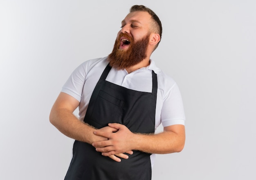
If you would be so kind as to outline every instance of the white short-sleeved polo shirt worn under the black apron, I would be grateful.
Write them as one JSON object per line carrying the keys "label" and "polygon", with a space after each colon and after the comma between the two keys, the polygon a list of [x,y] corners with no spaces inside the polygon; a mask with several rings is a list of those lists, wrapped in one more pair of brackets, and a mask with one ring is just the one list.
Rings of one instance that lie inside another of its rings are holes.
{"label": "white short-sleeved polo shirt worn under the black apron", "polygon": [[[73,71],[61,90],[80,102],[79,119],[81,121],[85,117],[94,87],[107,64],[107,57],[83,62]],[[152,70],[157,74],[155,129],[161,122],[163,127],[174,124],[184,125],[185,114],[180,90],[172,78],[156,67],[153,60],[150,60],[148,67],[143,67],[131,73],[127,73],[126,70],[112,68],[106,80],[128,89],[152,92]],[[151,155],[150,158],[153,167],[155,154]]]}

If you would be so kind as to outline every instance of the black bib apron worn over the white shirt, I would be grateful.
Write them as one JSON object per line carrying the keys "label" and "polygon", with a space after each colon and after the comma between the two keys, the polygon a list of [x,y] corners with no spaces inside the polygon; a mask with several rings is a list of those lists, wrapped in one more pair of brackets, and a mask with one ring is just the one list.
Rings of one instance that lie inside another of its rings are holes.
{"label": "black bib apron worn over the white shirt", "polygon": [[[157,75],[152,71],[152,93],[135,91],[106,81],[108,65],[92,93],[84,122],[96,128],[124,124],[137,133],[155,132]],[[65,180],[151,180],[149,153],[133,151],[116,162],[88,143],[75,140],[73,158]]]}

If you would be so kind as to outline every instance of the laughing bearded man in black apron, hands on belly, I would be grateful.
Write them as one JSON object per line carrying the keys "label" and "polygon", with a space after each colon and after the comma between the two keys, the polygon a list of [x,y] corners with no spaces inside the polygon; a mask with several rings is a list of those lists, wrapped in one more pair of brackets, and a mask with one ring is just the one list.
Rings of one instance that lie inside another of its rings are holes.
{"label": "laughing bearded man in black apron, hands on belly", "polygon": [[81,64],[63,86],[50,122],[75,139],[65,180],[150,180],[155,153],[182,151],[180,91],[150,60],[161,36],[157,15],[132,6],[112,53]]}

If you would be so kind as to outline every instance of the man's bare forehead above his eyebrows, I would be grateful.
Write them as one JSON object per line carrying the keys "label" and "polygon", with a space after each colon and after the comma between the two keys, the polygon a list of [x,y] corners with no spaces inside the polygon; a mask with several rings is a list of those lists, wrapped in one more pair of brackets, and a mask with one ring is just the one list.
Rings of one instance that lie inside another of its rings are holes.
{"label": "man's bare forehead above his eyebrows", "polygon": [[128,23],[128,22],[138,22],[140,24],[150,24],[151,22],[151,16],[148,12],[145,11],[134,11],[129,13],[124,20],[122,20],[122,23]]}

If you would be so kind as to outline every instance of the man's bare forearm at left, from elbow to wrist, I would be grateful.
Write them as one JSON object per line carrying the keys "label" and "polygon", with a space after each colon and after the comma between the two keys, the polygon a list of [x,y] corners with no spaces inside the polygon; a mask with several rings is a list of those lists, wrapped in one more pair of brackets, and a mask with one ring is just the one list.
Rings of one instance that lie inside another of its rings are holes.
{"label": "man's bare forearm at left, from elbow to wrist", "polygon": [[64,135],[75,140],[92,144],[94,142],[93,127],[81,122],[72,112],[67,109],[52,109],[50,122]]}

